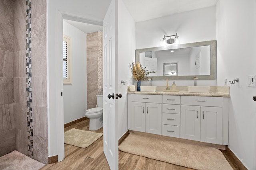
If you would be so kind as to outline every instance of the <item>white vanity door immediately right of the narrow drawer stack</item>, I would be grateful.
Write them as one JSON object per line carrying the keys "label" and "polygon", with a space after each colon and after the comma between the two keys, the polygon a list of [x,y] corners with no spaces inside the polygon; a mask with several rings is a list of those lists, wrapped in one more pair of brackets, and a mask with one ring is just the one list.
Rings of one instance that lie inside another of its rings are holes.
{"label": "white vanity door immediately right of the narrow drawer stack", "polygon": [[180,138],[200,141],[200,106],[180,106]]}

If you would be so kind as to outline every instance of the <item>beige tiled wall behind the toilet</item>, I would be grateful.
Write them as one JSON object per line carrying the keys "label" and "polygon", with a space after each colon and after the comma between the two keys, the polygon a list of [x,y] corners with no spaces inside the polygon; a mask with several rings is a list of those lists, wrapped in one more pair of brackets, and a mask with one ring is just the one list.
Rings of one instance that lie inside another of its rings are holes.
{"label": "beige tiled wall behind the toilet", "polygon": [[[102,94],[102,31],[87,34],[87,109],[96,107],[96,95]],[[97,85],[98,86],[97,86]]]}

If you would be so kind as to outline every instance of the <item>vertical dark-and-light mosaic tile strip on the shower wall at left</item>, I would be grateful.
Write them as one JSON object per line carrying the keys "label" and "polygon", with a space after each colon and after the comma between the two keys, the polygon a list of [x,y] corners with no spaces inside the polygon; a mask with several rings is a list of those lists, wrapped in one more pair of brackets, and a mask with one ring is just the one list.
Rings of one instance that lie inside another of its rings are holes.
{"label": "vertical dark-and-light mosaic tile strip on the shower wall at left", "polygon": [[34,158],[33,152],[33,112],[32,112],[32,70],[31,70],[31,1],[26,0],[26,92],[28,121],[28,156]]}

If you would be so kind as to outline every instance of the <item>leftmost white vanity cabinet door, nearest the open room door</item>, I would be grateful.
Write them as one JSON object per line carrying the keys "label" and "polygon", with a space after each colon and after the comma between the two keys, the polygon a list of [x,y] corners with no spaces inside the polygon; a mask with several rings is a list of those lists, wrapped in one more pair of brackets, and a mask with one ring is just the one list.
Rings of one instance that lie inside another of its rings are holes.
{"label": "leftmost white vanity cabinet door, nearest the open room door", "polygon": [[146,105],[140,102],[131,103],[131,130],[145,132]]}

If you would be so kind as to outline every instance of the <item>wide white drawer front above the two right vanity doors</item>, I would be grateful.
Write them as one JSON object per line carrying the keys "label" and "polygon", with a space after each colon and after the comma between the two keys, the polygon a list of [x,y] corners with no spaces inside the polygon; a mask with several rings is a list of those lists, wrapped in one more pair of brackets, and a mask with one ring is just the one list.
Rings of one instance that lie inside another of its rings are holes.
{"label": "wide white drawer front above the two right vanity doors", "polygon": [[180,104],[194,106],[215,106],[223,107],[222,97],[206,97],[206,96],[181,96]]}

